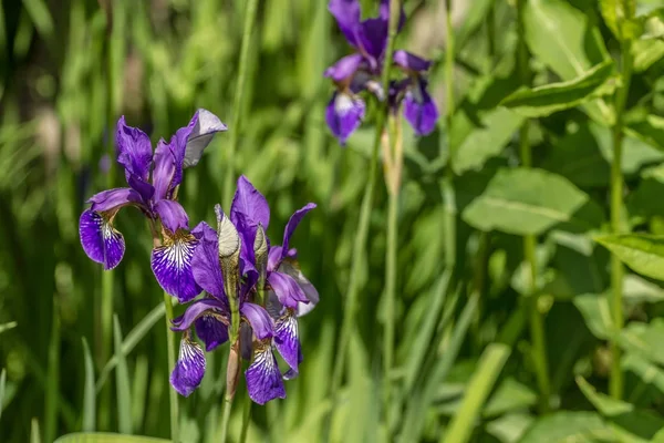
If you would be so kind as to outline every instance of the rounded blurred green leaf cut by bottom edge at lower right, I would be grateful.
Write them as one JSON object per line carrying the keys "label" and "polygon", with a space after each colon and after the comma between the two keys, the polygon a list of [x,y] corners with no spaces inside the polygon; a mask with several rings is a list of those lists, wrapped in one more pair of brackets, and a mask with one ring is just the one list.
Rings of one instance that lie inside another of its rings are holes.
{"label": "rounded blurred green leaf cut by bottom edge at lower right", "polygon": [[611,429],[594,412],[560,411],[538,419],[519,443],[616,442]]}

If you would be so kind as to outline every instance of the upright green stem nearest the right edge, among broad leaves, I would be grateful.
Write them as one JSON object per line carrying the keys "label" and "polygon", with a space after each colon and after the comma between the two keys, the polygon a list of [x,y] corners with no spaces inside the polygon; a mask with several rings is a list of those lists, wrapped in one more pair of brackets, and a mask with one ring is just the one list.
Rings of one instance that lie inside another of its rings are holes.
{"label": "upright green stem nearest the right edge, among broad leaves", "polygon": [[[624,1],[625,18],[631,20],[634,17],[632,2]],[[624,231],[622,224],[623,210],[623,187],[624,179],[622,175],[622,154],[623,154],[623,130],[624,130],[624,111],[630,91],[630,82],[632,80],[632,41],[630,39],[621,40],[621,75],[622,87],[615,93],[615,124],[613,125],[613,162],[611,163],[611,230],[613,234]],[[624,313],[622,302],[624,268],[620,259],[615,255],[611,255],[611,288],[612,298],[610,300],[613,322],[618,331],[624,326]],[[623,395],[623,374],[620,367],[621,352],[615,340],[611,341],[612,363],[611,378],[609,381],[609,392],[614,399],[621,399]]]}

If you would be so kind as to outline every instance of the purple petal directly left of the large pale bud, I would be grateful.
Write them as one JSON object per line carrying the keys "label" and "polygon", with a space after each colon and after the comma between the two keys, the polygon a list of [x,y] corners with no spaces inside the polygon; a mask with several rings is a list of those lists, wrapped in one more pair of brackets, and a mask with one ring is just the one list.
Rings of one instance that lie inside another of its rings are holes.
{"label": "purple petal directly left of the large pale bud", "polygon": [[211,296],[221,300],[226,299],[224,276],[219,264],[217,231],[207,223],[201,222],[191,234],[199,239],[191,259],[194,280]]}

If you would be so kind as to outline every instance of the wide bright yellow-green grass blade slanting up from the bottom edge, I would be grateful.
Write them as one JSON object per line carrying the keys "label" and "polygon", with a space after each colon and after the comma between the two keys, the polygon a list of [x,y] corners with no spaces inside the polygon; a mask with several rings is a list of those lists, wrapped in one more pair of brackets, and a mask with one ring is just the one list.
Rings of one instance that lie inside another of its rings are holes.
{"label": "wide bright yellow-green grass blade slanting up from the bottom edge", "polygon": [[477,371],[468,382],[460,408],[452,419],[449,431],[440,437],[440,443],[466,443],[475,427],[489,392],[500,374],[511,348],[502,343],[491,343],[483,352]]}

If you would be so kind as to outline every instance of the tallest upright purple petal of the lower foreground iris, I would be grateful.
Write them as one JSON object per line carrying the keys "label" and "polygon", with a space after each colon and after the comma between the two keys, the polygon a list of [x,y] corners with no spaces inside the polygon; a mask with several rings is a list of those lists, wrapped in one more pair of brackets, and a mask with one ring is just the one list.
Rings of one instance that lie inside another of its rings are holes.
{"label": "tallest upright purple petal of the lower foreground iris", "polygon": [[241,257],[253,264],[256,231],[258,225],[262,225],[263,229],[268,228],[270,207],[266,197],[243,175],[238,178],[237,190],[230,205],[230,220],[242,238]]}

